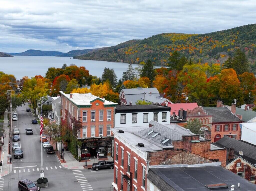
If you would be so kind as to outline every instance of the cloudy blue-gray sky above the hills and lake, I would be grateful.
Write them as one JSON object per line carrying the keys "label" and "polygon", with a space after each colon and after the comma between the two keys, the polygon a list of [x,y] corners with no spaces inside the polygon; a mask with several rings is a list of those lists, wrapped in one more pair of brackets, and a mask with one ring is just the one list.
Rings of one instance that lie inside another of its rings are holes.
{"label": "cloudy blue-gray sky above the hills and lake", "polygon": [[255,1],[0,0],[0,51],[68,52],[255,23]]}

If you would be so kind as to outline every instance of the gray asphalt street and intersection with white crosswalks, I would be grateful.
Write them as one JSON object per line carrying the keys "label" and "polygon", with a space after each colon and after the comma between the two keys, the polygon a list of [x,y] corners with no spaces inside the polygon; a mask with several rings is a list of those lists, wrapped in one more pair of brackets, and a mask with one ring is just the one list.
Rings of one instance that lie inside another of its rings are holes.
{"label": "gray asphalt street and intersection with white crosswalks", "polygon": [[[41,142],[38,124],[31,124],[34,118],[31,112],[26,112],[28,106],[18,107],[18,121],[13,121],[13,127],[19,128],[20,145],[23,158],[14,159],[13,170],[3,176],[0,185],[4,191],[18,190],[17,184],[21,179],[36,181],[40,177],[41,168]],[[26,128],[33,129],[33,135],[26,135]],[[90,169],[66,169],[62,167],[55,154],[47,154],[43,150],[44,177],[48,179],[49,186],[40,190],[81,190],[103,191],[111,190],[113,182],[113,169],[93,171]],[[113,190],[113,189],[112,189]]]}

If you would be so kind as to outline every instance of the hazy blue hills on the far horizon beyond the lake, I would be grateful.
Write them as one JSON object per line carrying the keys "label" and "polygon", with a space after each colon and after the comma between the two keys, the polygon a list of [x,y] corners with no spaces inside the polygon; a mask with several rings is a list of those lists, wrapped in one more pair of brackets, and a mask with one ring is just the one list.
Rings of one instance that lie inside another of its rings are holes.
{"label": "hazy blue hills on the far horizon beyond the lake", "polygon": [[68,53],[58,52],[58,51],[44,51],[44,50],[27,50],[22,53],[9,53],[14,56],[66,56],[66,57],[73,57],[78,55],[87,54],[93,50],[97,50],[97,48],[94,49],[84,49],[84,50],[71,50]]}

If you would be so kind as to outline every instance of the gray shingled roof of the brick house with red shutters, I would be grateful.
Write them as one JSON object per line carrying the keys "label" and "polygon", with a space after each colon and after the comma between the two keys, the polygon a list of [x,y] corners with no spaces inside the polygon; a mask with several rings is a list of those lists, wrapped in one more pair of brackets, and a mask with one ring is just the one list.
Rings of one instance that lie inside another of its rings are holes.
{"label": "gray shingled roof of the brick house with red shutters", "polygon": [[212,115],[212,122],[241,121],[227,107],[204,107],[208,115]]}

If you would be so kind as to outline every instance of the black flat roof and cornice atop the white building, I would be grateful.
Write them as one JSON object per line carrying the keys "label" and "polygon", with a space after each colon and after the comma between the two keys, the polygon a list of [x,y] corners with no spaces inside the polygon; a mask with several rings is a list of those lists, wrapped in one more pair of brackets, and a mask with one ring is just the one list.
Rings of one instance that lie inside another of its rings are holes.
{"label": "black flat roof and cornice atop the white building", "polygon": [[161,105],[118,105],[116,106],[115,113],[133,113],[133,112],[158,112],[170,111],[171,108]]}

